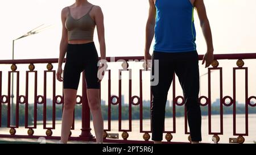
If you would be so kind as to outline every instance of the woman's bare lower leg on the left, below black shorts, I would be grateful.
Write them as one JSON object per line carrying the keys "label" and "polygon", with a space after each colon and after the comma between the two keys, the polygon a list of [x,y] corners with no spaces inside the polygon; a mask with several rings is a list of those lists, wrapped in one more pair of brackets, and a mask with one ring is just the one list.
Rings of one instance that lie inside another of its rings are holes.
{"label": "woman's bare lower leg on the left, below black shorts", "polygon": [[61,124],[61,143],[67,143],[70,129],[73,123],[73,112],[76,105],[75,89],[64,89],[64,110]]}

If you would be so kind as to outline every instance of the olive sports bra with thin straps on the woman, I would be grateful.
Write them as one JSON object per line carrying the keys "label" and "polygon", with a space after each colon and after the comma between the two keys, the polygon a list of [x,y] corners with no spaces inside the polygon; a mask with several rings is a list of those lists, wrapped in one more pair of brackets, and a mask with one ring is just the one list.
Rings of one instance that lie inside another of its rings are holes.
{"label": "olive sports bra with thin straps on the woman", "polygon": [[90,8],[87,14],[79,19],[74,19],[68,7],[68,16],[65,21],[65,27],[68,30],[68,40],[92,40],[96,23],[90,17],[89,13],[94,6]]}

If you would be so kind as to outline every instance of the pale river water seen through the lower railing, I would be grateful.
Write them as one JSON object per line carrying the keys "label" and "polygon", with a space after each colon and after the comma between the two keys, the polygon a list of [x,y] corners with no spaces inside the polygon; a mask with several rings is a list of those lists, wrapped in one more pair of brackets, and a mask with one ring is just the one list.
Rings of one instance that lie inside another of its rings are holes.
{"label": "pale river water seen through the lower railing", "polygon": [[[237,132],[244,133],[245,132],[245,115],[237,115]],[[46,135],[46,130],[43,129],[43,125],[38,122],[37,129],[35,130],[34,135]],[[42,122],[41,122],[42,123]],[[51,122],[47,122],[47,127],[51,127]],[[184,117],[176,118],[176,133],[173,133],[172,141],[188,141],[188,135],[184,134]],[[224,115],[223,119],[224,124],[224,135],[220,135],[220,143],[229,143],[229,138],[236,138],[237,136],[233,136],[233,115]],[[112,120],[112,131],[108,133],[119,133],[119,139],[122,139],[122,132],[118,132],[118,121]],[[104,121],[104,127],[108,127],[108,122]],[[122,120],[122,129],[128,129],[129,124],[128,120]],[[132,121],[132,132],[129,132],[129,140],[143,140],[143,133],[139,133],[139,120]],[[166,130],[172,131],[172,118],[166,118],[165,123]],[[93,124],[91,122],[92,134],[94,135]],[[81,133],[81,120],[75,121],[75,130],[72,131],[72,136],[79,136]],[[150,120],[143,120],[143,130],[150,129]],[[53,136],[60,136],[61,131],[61,121],[56,121],[56,129],[53,130]],[[220,116],[213,115],[212,116],[212,132],[220,131]],[[9,135],[9,128],[0,128],[0,134]],[[16,135],[27,135],[27,129],[24,127],[20,127],[16,129]],[[151,133],[150,133],[151,135]],[[165,134],[163,135],[163,137]],[[212,135],[208,134],[208,116],[202,117],[202,136],[203,143],[211,143]],[[256,141],[256,114],[249,115],[249,136],[245,136],[245,143],[253,143]]]}

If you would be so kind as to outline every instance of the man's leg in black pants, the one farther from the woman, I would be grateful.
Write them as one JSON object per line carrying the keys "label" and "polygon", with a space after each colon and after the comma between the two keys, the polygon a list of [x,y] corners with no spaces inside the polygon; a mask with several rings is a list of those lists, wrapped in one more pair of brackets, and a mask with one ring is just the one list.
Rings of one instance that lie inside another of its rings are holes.
{"label": "man's leg in black pants, the one farther from the woman", "polygon": [[192,143],[201,138],[201,109],[199,103],[199,60],[197,52],[180,53],[175,63],[175,73],[183,89],[188,125]]}

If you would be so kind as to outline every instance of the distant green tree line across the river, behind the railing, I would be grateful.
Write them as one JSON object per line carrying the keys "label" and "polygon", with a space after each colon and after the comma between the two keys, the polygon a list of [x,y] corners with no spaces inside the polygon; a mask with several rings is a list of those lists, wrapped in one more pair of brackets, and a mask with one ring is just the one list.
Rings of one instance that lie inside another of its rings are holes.
{"label": "distant green tree line across the river, behind the railing", "polygon": [[[108,106],[102,105],[102,115],[104,120],[108,120]],[[28,106],[28,124],[34,122],[34,106]],[[212,115],[220,114],[220,107],[212,107]],[[233,107],[224,107],[224,114],[233,114]],[[37,120],[43,120],[43,105],[38,105]],[[77,105],[75,108],[75,119],[81,119],[82,106]],[[237,114],[245,114],[245,107],[239,106],[236,108]],[[56,120],[61,120],[62,106],[56,105]],[[203,116],[208,115],[208,107],[201,107],[201,114]],[[249,107],[249,114],[256,114],[256,108]],[[166,118],[172,118],[172,107],[166,108]],[[176,117],[184,116],[184,107],[176,107]],[[15,117],[15,116],[14,116]],[[92,118],[92,117],[91,117]],[[139,106],[133,106],[131,110],[131,118],[139,119]],[[112,105],[111,119],[118,120],[118,106]],[[122,120],[129,119],[129,107],[127,105],[122,106]],[[143,119],[150,119],[150,107],[143,107]],[[47,105],[47,120],[52,120],[52,106]],[[19,106],[19,125],[24,125],[25,122],[25,107],[24,105]],[[2,127],[7,125],[7,106],[2,105]]]}

